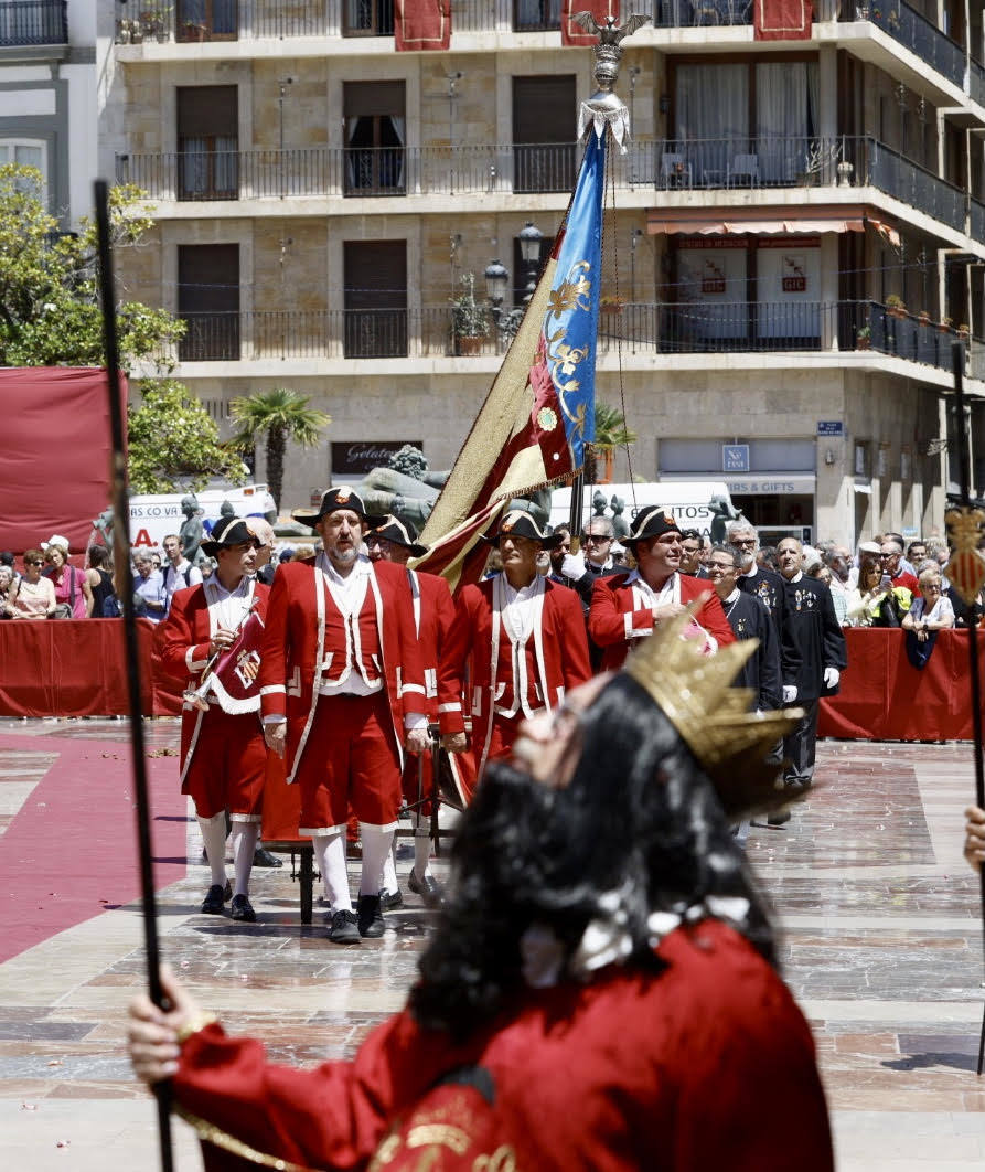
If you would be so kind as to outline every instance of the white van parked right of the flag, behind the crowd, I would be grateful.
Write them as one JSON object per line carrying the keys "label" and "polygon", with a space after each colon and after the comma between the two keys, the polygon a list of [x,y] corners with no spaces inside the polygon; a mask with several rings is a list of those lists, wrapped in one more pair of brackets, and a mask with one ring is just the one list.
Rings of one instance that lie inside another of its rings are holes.
{"label": "white van parked right of the flag, behind the crowd", "polygon": [[[645,484],[586,484],[582,496],[582,524],[590,520],[591,498],[601,492],[606,500],[618,497],[625,505],[623,518],[632,525],[634,515],[650,505],[661,505],[673,515],[682,529],[696,529],[712,541],[725,540],[725,526],[741,516],[732,504],[724,481],[651,481]],[[555,489],[550,497],[550,524],[567,525],[572,512],[572,490]],[[607,507],[606,516],[613,510]]]}

